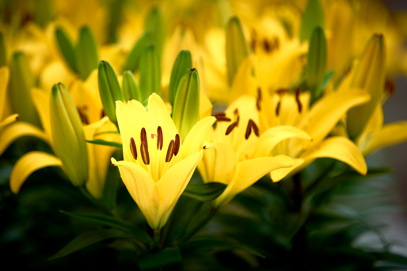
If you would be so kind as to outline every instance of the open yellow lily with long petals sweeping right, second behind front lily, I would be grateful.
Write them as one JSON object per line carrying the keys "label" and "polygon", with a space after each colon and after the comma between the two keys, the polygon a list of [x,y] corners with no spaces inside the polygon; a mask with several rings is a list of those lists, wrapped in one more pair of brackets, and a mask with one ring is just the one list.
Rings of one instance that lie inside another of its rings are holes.
{"label": "open yellow lily with long petals sweeping right, second behind front lily", "polygon": [[291,125],[309,134],[309,138],[293,134],[275,145],[264,141],[260,143],[261,153],[266,155],[285,154],[295,161],[288,169],[271,171],[271,179],[278,182],[288,174],[292,175],[312,163],[316,158],[329,157],[340,160],[365,175],[367,167],[358,147],[343,136],[327,137],[337,122],[353,106],[364,104],[370,95],[361,89],[348,89],[339,86],[337,91],[325,94],[309,108],[310,94],[284,93],[273,94],[261,102],[263,129]]}

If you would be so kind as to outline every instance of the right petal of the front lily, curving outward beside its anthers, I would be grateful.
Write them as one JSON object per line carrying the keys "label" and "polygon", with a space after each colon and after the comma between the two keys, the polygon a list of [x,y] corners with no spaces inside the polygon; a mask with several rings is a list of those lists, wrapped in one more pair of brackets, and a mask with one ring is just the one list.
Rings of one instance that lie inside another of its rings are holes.
{"label": "right petal of the front lily, curving outward beside its anthers", "polygon": [[188,132],[184,142],[182,142],[182,153],[184,157],[190,156],[199,150],[199,146],[205,137],[206,132],[215,123],[216,117],[204,117],[198,121]]}

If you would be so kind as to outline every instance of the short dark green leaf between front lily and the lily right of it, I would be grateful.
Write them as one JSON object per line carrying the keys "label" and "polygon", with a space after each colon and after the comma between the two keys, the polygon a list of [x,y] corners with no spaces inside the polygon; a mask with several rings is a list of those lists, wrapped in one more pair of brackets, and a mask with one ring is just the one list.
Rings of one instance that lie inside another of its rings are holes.
{"label": "short dark green leaf between front lily and the lily right of it", "polygon": [[202,202],[210,202],[219,197],[226,189],[226,186],[228,185],[220,182],[188,184],[182,195],[198,199]]}

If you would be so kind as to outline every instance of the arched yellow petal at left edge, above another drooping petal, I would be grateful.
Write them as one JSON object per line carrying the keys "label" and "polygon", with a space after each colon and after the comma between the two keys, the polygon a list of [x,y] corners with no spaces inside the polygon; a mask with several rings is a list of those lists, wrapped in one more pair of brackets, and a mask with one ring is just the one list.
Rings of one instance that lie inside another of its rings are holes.
{"label": "arched yellow petal at left edge, above another drooping petal", "polygon": [[37,128],[37,126],[29,124],[28,122],[17,121],[4,127],[0,133],[0,154],[2,154],[16,139],[25,136],[38,137],[49,143],[46,134],[41,129]]}

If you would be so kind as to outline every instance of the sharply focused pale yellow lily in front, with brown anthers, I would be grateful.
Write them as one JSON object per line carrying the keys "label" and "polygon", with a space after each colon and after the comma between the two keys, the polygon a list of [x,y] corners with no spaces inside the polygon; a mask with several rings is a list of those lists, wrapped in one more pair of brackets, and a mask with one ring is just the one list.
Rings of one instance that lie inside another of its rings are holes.
{"label": "sharply focused pale yellow lily in front, with brown anthers", "polygon": [[198,121],[181,142],[164,101],[155,93],[149,97],[148,111],[136,100],[116,101],[116,116],[124,160],[112,158],[112,164],[119,167],[147,223],[160,229],[201,160],[199,145],[216,118]]}

